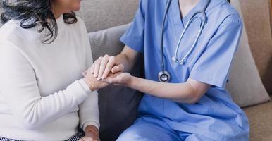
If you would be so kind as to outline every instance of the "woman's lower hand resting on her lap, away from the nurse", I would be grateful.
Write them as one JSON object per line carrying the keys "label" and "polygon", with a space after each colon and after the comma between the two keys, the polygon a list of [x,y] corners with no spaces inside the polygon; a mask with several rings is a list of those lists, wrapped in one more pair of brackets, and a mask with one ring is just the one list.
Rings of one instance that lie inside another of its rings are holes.
{"label": "woman's lower hand resting on her lap, away from the nurse", "polygon": [[99,141],[99,130],[94,125],[85,128],[85,136],[80,141]]}

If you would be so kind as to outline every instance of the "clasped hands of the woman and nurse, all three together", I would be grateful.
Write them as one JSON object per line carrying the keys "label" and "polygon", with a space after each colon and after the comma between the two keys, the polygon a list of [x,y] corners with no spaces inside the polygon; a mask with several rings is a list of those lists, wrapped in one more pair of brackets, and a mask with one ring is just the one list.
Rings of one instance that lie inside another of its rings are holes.
{"label": "clasped hands of the woman and nurse, all three together", "polygon": [[124,73],[124,70],[124,65],[116,59],[116,56],[105,55],[94,61],[82,75],[91,90],[99,90],[110,84],[128,85],[132,76],[130,73]]}

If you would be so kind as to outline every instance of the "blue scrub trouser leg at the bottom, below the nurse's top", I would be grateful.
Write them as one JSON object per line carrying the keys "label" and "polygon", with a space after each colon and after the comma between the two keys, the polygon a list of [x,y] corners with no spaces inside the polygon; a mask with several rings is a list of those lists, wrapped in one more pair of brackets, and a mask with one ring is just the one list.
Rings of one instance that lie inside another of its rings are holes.
{"label": "blue scrub trouser leg at the bottom, below the nurse's top", "polygon": [[117,141],[215,141],[195,133],[185,133],[170,128],[158,118],[142,117],[125,130]]}

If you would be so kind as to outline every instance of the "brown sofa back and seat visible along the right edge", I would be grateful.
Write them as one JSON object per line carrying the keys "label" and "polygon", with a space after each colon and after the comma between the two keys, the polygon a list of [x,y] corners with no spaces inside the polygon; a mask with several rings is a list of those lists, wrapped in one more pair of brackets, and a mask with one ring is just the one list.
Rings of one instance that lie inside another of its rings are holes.
{"label": "brown sofa back and seat visible along the right edge", "polygon": [[[266,90],[272,94],[272,40],[270,0],[240,0],[252,55]],[[251,140],[272,140],[272,102],[244,109],[251,125]]]}

